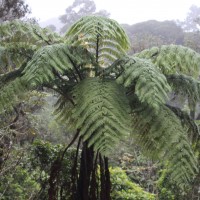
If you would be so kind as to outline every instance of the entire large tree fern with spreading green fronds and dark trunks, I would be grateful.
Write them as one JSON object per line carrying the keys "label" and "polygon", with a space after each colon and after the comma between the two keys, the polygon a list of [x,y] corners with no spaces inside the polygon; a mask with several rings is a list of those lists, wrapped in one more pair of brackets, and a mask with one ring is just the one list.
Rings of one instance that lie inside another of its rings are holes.
{"label": "entire large tree fern with spreading green fronds and dark trunks", "polygon": [[[160,160],[175,184],[184,188],[193,180],[198,172],[198,129],[167,100],[173,91],[191,109],[199,101],[195,79],[199,54],[170,45],[128,56],[124,30],[104,17],[84,17],[64,37],[24,22],[3,23],[0,30],[6,36],[1,39],[2,52],[17,63],[0,77],[1,111],[12,109],[22,93],[47,87],[57,94],[58,120],[74,132],[72,142],[51,165],[49,199],[58,195],[62,159],[75,140],[72,199],[110,199],[108,156],[127,137],[134,138],[146,155]],[[21,46],[12,46],[15,37]],[[28,38],[25,46],[24,38]]]}

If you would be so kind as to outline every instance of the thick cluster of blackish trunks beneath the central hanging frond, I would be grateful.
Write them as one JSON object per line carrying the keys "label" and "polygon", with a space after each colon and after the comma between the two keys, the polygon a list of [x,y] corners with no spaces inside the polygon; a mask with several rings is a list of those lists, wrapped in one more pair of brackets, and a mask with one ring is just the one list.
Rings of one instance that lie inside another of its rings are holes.
{"label": "thick cluster of blackish trunks beneath the central hanging frond", "polygon": [[[100,186],[98,185],[98,155],[95,156],[92,147],[83,144],[80,173],[77,186],[77,199],[79,200],[110,200],[110,173],[108,169],[108,158],[99,155]],[[99,194],[100,187],[100,194]]]}

